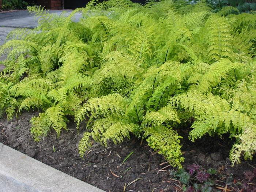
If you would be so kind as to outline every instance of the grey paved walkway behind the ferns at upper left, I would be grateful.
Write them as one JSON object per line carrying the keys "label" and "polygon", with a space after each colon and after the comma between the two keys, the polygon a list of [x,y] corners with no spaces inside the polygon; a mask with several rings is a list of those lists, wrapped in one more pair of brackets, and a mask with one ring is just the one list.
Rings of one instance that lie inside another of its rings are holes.
{"label": "grey paved walkway behind the ferns at upper left", "polygon": [[[65,15],[69,15],[72,10],[49,10],[52,14],[60,15],[65,12]],[[81,13],[77,13],[74,16],[74,21],[78,21],[82,17]],[[34,15],[30,14],[26,10],[7,12],[0,14],[0,46],[4,44],[7,34],[16,28],[30,28],[37,27],[37,19]],[[3,61],[6,55],[0,56],[0,61]]]}

